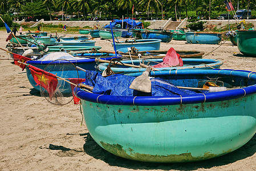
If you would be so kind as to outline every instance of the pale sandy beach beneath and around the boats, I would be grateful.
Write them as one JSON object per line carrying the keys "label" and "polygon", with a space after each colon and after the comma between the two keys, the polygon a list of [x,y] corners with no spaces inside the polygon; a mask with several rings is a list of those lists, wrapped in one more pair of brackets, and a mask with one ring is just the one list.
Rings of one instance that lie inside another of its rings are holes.
{"label": "pale sandy beach beneath and around the boats", "polygon": [[[7,36],[0,31],[1,48]],[[95,40],[101,50],[113,50],[109,40]],[[223,60],[221,69],[256,71],[256,58],[242,55],[230,41],[219,46],[172,40],[160,50],[214,50],[204,58]],[[0,55],[9,58],[5,51]],[[79,105],[48,103],[12,62],[0,60],[0,170],[256,170],[256,135],[234,152],[200,162],[154,164],[117,157],[95,143],[84,123],[80,126]]]}

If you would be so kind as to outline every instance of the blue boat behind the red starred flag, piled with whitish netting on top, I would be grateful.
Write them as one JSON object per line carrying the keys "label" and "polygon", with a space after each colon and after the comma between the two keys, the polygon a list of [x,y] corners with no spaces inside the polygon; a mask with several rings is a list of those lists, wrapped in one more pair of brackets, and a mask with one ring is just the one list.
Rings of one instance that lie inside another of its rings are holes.
{"label": "blue boat behind the red starred flag, piled with whitish netting on top", "polygon": [[[113,58],[118,58],[116,56],[104,56],[104,58],[101,58],[101,56],[98,56],[97,58],[103,59],[103,60],[111,60]],[[26,62],[27,64],[31,64],[32,66],[38,67],[42,70],[44,70],[47,67],[47,71],[51,72],[52,74],[55,74],[57,76],[60,76],[61,78],[74,78],[74,76],[79,76],[79,78],[85,77],[85,72],[81,70],[75,70],[75,67],[71,67],[71,63],[75,66],[81,67],[84,70],[93,70],[95,71],[95,59],[76,59],[76,60],[28,60]],[[49,71],[50,70],[50,71]],[[29,82],[32,87],[34,87],[37,91],[40,91],[40,86],[35,82],[33,79],[31,72],[28,67],[26,67],[26,73],[27,78],[29,79]],[[59,80],[58,86],[61,89],[60,92],[71,94],[71,87],[70,84],[67,84],[66,82]]]}

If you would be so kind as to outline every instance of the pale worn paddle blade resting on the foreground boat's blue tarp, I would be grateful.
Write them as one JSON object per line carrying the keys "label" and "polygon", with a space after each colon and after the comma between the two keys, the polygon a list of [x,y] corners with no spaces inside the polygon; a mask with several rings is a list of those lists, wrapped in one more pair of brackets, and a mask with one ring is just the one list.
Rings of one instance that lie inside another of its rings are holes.
{"label": "pale worn paddle blade resting on the foreground boat's blue tarp", "polygon": [[135,78],[129,88],[147,93],[151,92],[151,80],[148,78],[149,71],[151,71],[150,67],[143,74]]}

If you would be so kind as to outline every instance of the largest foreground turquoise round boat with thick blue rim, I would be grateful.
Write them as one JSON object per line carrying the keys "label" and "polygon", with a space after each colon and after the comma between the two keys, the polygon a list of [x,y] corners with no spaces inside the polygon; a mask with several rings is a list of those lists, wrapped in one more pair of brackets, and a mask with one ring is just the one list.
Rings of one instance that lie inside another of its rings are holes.
{"label": "largest foreground turquoise round boat with thick blue rim", "polygon": [[218,79],[228,88],[245,87],[183,96],[113,96],[78,89],[86,127],[108,152],[144,162],[192,162],[233,152],[254,136],[256,72],[178,70],[151,76],[175,86]]}

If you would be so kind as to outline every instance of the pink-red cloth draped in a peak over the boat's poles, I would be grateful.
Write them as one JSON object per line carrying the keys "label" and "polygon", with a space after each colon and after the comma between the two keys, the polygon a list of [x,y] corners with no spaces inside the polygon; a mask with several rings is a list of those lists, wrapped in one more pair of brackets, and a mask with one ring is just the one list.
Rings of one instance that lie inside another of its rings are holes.
{"label": "pink-red cloth draped in a peak over the boat's poles", "polygon": [[174,48],[170,48],[162,59],[163,62],[153,66],[154,68],[165,68],[165,67],[182,67],[183,61],[180,58],[180,55],[174,50]]}

